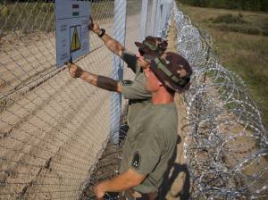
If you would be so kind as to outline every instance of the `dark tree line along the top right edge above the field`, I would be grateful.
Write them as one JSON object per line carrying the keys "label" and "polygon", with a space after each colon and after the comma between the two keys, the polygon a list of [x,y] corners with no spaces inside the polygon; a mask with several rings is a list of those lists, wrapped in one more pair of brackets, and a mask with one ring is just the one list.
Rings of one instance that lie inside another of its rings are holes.
{"label": "dark tree line along the top right edge above the field", "polygon": [[179,0],[179,2],[198,7],[268,12],[268,0]]}

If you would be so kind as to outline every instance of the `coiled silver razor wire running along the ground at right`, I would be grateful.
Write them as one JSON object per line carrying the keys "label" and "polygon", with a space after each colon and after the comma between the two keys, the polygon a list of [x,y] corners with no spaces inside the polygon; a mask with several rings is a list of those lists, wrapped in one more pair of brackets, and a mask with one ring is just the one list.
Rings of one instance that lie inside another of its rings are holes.
{"label": "coiled silver razor wire running along the ground at right", "polygon": [[260,112],[243,80],[214,55],[209,35],[173,8],[177,49],[194,70],[184,96],[191,197],[267,198],[268,140]]}

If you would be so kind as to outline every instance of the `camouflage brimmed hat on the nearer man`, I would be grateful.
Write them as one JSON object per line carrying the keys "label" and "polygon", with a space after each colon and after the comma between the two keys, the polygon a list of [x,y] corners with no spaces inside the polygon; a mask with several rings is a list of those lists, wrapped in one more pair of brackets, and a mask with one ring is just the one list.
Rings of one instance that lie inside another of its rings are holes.
{"label": "camouflage brimmed hat on the nearer man", "polygon": [[161,57],[155,57],[151,60],[150,70],[165,87],[170,87],[175,92],[181,93],[190,86],[192,69],[180,54],[168,52]]}

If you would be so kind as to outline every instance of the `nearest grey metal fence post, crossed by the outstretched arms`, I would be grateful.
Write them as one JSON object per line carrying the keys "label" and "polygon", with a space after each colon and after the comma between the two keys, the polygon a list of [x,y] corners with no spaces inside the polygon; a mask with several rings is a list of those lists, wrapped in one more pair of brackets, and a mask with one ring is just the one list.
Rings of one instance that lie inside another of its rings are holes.
{"label": "nearest grey metal fence post, crossed by the outstretched arms", "polygon": [[[127,1],[114,1],[114,38],[122,45],[125,44]],[[114,54],[112,78],[122,79],[123,61]],[[110,134],[113,143],[118,143],[121,117],[121,95],[111,94],[111,113],[110,113]]]}

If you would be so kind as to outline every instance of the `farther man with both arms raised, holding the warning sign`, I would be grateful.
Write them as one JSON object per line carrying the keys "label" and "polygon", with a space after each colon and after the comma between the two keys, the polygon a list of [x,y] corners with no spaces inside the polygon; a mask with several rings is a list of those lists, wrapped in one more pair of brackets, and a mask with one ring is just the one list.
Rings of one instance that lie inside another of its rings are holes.
{"label": "farther man with both arms raised, holding the warning sign", "polygon": [[130,126],[131,121],[142,110],[151,99],[151,94],[147,92],[145,87],[145,77],[142,72],[142,68],[147,68],[151,57],[163,54],[166,50],[167,42],[160,37],[146,37],[143,43],[136,42],[139,53],[137,55],[131,53],[118,41],[110,37],[105,33],[105,29],[100,29],[96,22],[91,20],[91,29],[98,37],[100,37],[105,46],[110,51],[117,54],[123,59],[128,67],[136,73],[135,79],[131,80],[114,80],[108,77],[92,74],[88,71],[82,70],[79,66],[71,64],[70,74],[73,78],[80,78],[88,83],[103,88],[108,91],[121,93],[122,96],[129,101],[128,112],[128,124]]}

